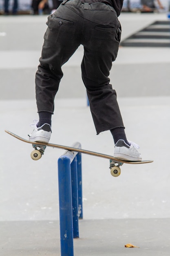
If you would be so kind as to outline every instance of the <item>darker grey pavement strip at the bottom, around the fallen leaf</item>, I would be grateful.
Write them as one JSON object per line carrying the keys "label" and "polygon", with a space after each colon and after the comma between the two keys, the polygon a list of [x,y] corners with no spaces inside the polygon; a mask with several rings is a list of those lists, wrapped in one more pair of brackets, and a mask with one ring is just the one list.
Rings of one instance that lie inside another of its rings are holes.
{"label": "darker grey pavement strip at the bottom, around the fallen leaf", "polygon": [[[74,255],[166,256],[169,225],[170,219],[81,220]],[[2,222],[1,230],[3,256],[60,256],[58,221]]]}

